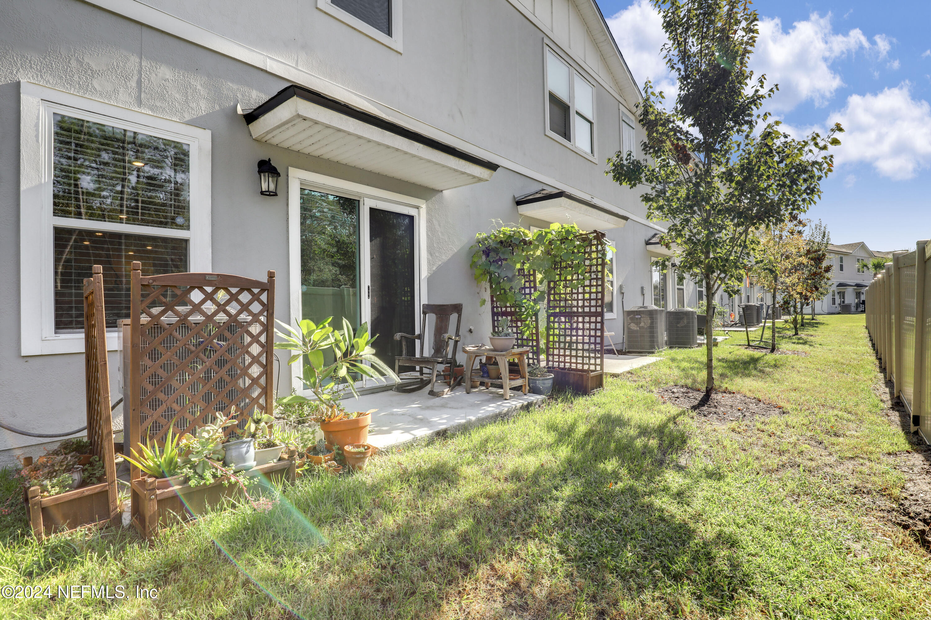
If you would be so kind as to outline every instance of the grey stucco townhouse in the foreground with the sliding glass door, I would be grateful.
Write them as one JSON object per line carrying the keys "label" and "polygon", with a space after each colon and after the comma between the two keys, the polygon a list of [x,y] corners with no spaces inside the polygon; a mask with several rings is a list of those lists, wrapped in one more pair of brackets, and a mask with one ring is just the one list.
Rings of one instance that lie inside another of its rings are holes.
{"label": "grey stucco townhouse in the foreground with the sliding glass door", "polygon": [[[592,0],[7,0],[0,41],[9,425],[84,424],[92,264],[115,394],[134,260],[274,269],[278,319],[368,321],[389,363],[427,301],[464,303],[463,344],[487,338],[469,246],[494,222],[607,234],[618,347],[622,308],[651,302],[662,228],[604,174],[639,150],[640,89]],[[40,441],[4,433],[0,464]]]}

